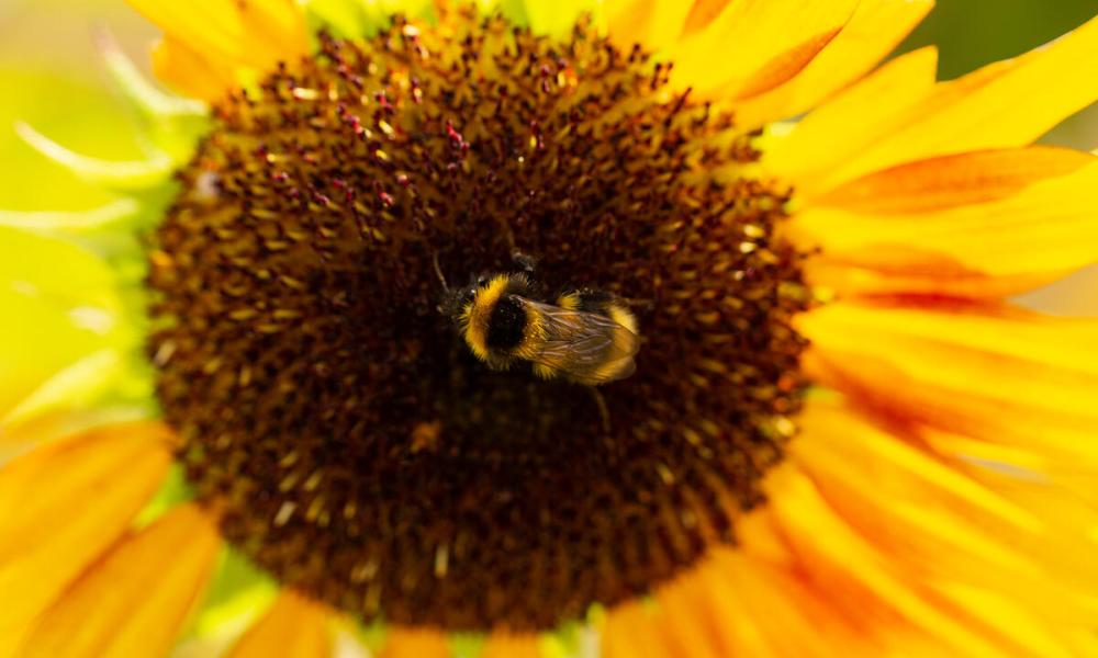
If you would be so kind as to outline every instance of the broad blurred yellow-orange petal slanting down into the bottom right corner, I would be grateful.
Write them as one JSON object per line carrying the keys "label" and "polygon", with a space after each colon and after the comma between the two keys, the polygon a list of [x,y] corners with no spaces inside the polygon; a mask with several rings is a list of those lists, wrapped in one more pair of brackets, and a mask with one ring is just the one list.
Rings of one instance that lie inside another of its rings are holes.
{"label": "broad blurred yellow-orange petal slanting down into the bottom right corner", "polygon": [[[1015,654],[1065,656],[1072,625],[1093,625],[1093,547],[1065,543],[1040,510],[999,497],[852,409],[809,404],[802,423],[791,458],[831,509],[932,595],[952,601],[974,629],[1017,645]],[[973,608],[977,600],[986,605]],[[994,623],[996,611],[1013,623]]]}

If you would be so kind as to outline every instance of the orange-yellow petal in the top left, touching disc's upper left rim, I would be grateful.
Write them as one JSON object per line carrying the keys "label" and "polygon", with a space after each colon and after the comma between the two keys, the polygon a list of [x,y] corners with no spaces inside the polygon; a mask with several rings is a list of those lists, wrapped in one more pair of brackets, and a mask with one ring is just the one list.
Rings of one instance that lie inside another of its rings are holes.
{"label": "orange-yellow petal in the top left, touching disc's upper left rim", "polygon": [[[130,3],[165,32],[155,54],[157,75],[204,99],[220,95],[210,90],[214,82],[227,89],[243,82],[246,69],[268,71],[307,53],[305,19],[293,0]],[[228,72],[233,79],[225,83]],[[204,75],[213,80],[202,82]]]}

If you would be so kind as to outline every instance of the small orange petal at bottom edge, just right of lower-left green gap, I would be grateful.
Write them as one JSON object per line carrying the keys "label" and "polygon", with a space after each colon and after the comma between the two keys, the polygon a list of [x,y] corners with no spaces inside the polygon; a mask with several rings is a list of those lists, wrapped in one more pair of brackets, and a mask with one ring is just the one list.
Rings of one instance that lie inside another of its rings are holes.
{"label": "small orange petal at bottom edge, just right of lower-left green gap", "polygon": [[327,658],[332,654],[329,611],[283,590],[266,615],[237,640],[228,658]]}

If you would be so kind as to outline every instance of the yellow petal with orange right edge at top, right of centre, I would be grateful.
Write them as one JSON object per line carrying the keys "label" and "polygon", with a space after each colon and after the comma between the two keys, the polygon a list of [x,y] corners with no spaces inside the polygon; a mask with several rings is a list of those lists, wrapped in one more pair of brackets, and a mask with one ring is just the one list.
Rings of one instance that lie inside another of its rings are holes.
{"label": "yellow petal with orange right edge at top, right of centre", "polygon": [[668,48],[672,80],[699,98],[757,95],[803,70],[850,20],[856,0],[740,0]]}

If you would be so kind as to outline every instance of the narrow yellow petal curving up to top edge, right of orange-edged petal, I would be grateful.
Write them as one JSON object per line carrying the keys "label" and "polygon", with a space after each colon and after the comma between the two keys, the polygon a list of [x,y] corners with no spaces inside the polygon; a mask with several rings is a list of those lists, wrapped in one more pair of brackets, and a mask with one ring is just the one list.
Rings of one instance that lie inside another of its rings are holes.
{"label": "narrow yellow petal curving up to top edge, right of orange-edged petal", "polygon": [[736,103],[736,125],[752,129],[816,106],[862,78],[933,5],[933,0],[864,0],[847,26],[792,80]]}

